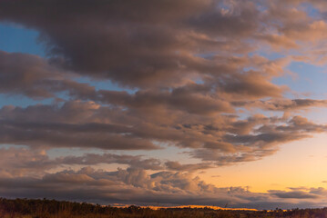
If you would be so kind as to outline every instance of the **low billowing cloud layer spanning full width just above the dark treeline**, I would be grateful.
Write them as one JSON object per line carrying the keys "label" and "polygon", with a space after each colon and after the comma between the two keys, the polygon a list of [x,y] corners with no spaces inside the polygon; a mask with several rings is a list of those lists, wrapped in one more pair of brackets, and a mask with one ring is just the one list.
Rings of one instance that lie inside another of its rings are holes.
{"label": "low billowing cloud layer spanning full width just above the dark treeline", "polygon": [[[162,206],[228,203],[230,207],[265,209],[322,206],[327,194],[323,188],[306,187],[270,190],[268,193],[252,193],[247,187],[218,188],[192,173],[180,172],[183,166],[178,163],[175,163],[176,171],[169,171],[159,165],[158,160],[141,159],[139,156],[85,154],[53,159],[42,152],[36,154],[24,148],[2,149],[0,155],[2,165],[7,167],[0,172],[0,190],[6,197],[47,197],[105,204],[159,203]],[[96,166],[97,163],[124,163],[129,166],[117,171],[85,166]],[[81,167],[46,173],[46,170],[58,165]],[[167,163],[169,168],[171,165]],[[148,173],[146,169],[158,172]]]}

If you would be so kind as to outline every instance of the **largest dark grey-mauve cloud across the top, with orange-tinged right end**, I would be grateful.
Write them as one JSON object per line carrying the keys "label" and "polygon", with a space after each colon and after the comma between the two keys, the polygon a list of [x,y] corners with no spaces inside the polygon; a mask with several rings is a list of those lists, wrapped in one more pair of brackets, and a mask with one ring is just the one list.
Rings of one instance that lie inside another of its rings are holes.
{"label": "largest dark grey-mauve cloud across the top, with orange-tinged right end", "polygon": [[[83,0],[68,5],[56,0],[2,1],[0,6],[0,20],[38,30],[51,62],[78,74],[138,88],[211,78],[231,93],[277,96],[282,91],[260,72],[230,71],[235,69],[235,52],[253,51],[244,40],[261,32],[261,11],[254,2]],[[210,52],[216,53],[214,58],[201,55]],[[220,58],[223,62],[217,62]],[[230,81],[226,70],[235,80]]]}

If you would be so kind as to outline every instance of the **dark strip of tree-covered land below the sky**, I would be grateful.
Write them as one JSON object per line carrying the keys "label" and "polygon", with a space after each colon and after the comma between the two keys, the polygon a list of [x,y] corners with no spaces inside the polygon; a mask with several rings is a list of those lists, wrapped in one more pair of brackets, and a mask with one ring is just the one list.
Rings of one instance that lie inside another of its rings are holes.
{"label": "dark strip of tree-covered land below the sky", "polygon": [[209,217],[319,217],[327,218],[327,208],[293,209],[289,211],[226,211],[209,208],[167,208],[152,210],[138,206],[125,208],[90,203],[59,202],[55,200],[8,200],[0,198],[1,218],[209,218]]}

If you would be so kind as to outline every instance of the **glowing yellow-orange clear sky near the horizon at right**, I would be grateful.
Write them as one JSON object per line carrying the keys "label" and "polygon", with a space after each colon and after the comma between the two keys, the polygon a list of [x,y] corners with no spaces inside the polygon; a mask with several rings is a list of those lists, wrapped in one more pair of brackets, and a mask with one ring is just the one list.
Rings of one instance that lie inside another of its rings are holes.
{"label": "glowing yellow-orange clear sky near the horizon at right", "polygon": [[[280,151],[262,160],[210,169],[200,177],[219,187],[249,186],[251,192],[287,187],[326,187],[327,134],[282,144]],[[220,175],[212,177],[212,175]]]}

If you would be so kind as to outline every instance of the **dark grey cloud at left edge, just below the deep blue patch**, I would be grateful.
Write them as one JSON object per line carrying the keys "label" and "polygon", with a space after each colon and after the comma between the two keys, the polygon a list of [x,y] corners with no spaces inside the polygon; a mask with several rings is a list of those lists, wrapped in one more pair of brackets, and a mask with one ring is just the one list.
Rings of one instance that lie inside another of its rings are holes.
{"label": "dark grey cloud at left edge, just below the deep blue patch", "polygon": [[39,56],[0,51],[0,93],[34,99],[56,98],[60,92],[94,95],[94,87],[77,83],[74,77],[77,76]]}

